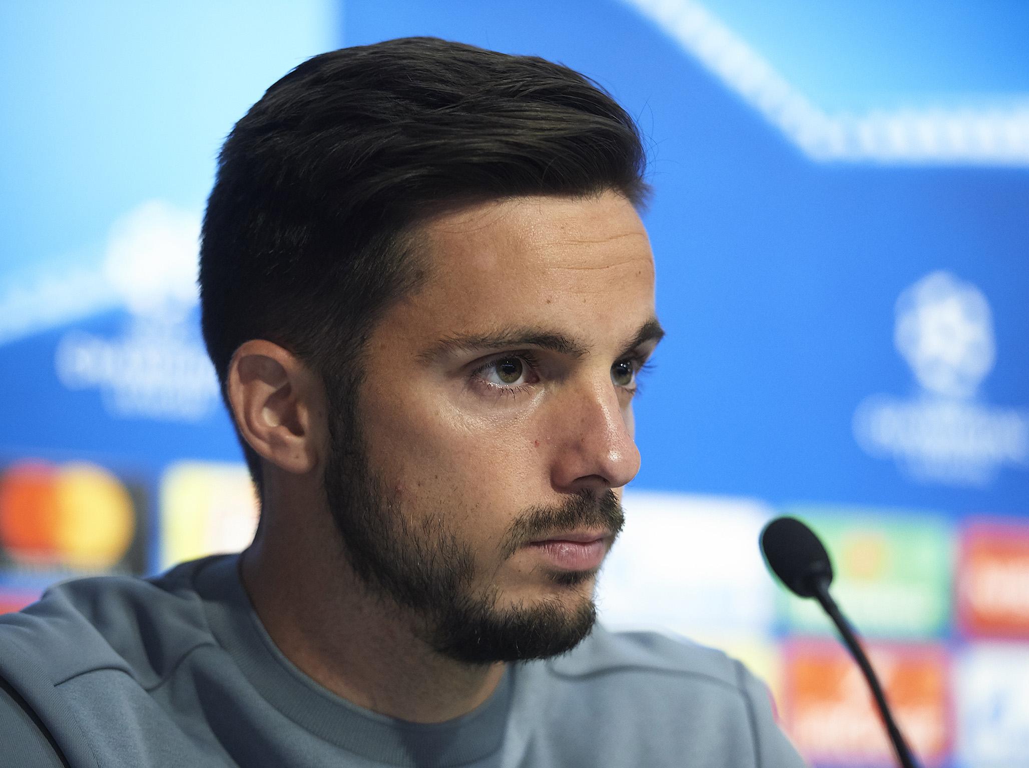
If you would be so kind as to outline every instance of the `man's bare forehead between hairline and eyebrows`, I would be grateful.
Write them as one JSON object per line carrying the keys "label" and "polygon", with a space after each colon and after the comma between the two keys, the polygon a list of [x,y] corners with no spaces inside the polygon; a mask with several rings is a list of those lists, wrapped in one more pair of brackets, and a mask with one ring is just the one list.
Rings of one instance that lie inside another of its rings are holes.
{"label": "man's bare forehead between hairline and eyebrows", "polygon": [[646,230],[614,192],[478,204],[430,220],[422,233],[429,277],[401,309],[431,309],[431,325],[446,330],[541,321],[607,327],[653,314]]}

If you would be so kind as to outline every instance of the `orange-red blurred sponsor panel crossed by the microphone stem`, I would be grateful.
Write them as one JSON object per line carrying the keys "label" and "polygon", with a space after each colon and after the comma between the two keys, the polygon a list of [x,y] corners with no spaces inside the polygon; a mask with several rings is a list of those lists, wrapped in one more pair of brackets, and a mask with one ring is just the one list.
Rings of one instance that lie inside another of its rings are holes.
{"label": "orange-red blurred sponsor panel crossed by the microphone stem", "polygon": [[[950,747],[947,654],[931,645],[867,648],[897,724],[929,764]],[[783,719],[811,761],[893,765],[893,751],[864,678],[836,643],[794,641],[785,650]]]}

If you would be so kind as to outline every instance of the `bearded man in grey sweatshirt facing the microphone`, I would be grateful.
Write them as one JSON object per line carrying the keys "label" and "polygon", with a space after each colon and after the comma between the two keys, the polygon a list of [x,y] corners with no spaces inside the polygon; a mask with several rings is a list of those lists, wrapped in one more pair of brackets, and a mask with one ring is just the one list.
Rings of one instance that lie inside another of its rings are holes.
{"label": "bearded man in grey sweatshirt facing the microphone", "polygon": [[594,626],[662,336],[643,163],[539,59],[393,40],[273,85],[200,276],[256,537],[3,619],[5,760],[801,765],[739,663]]}

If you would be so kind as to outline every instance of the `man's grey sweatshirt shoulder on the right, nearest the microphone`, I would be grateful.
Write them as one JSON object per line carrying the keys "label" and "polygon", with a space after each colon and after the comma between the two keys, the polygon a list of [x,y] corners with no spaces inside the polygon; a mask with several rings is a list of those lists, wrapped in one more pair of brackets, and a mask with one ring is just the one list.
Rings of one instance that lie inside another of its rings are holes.
{"label": "man's grey sweatshirt shoulder on the right, nearest the microphone", "polygon": [[[625,764],[655,766],[804,765],[776,723],[765,684],[736,659],[685,638],[598,627],[574,650],[525,664],[520,674],[524,717],[571,719],[589,734],[552,744],[555,752],[602,746]],[[571,754],[561,757],[578,764]]]}

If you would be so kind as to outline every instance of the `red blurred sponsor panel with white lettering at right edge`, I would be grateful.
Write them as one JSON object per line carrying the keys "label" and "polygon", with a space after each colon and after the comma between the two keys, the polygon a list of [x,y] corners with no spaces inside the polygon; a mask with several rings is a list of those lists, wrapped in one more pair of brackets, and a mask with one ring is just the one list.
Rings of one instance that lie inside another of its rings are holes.
{"label": "red blurred sponsor panel with white lettering at right edge", "polygon": [[1029,524],[971,523],[962,537],[957,585],[965,632],[1029,637]]}

